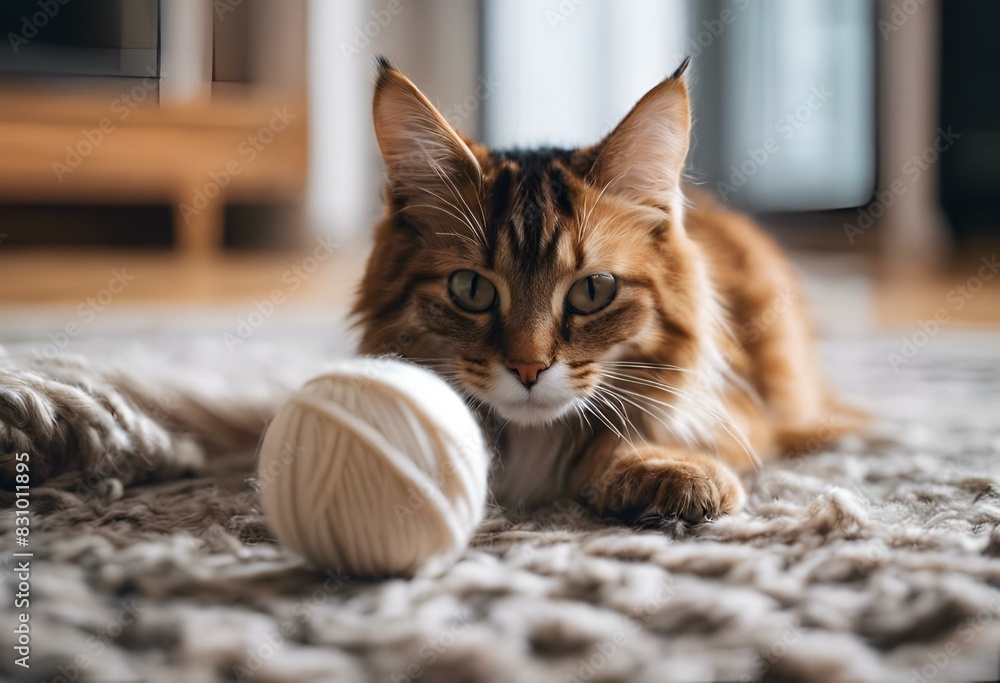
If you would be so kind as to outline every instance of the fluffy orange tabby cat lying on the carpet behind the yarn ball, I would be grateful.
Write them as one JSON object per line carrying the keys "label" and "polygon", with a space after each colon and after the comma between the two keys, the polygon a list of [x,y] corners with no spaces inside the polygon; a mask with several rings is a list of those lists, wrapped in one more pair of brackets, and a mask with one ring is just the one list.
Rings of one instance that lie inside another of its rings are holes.
{"label": "fluffy orange tabby cat lying on the carpet behind the yarn ball", "polygon": [[591,147],[496,151],[377,60],[386,213],[359,350],[466,397],[501,505],[698,524],[740,508],[761,458],[855,429],[781,250],[683,180],[687,66]]}

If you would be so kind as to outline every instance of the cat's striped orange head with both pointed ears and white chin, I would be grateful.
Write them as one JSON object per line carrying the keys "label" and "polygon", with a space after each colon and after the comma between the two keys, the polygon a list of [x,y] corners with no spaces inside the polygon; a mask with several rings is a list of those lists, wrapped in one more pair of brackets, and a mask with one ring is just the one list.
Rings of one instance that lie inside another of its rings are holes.
{"label": "cat's striped orange head with both pointed ears and white chin", "polygon": [[612,362],[694,363],[707,289],[683,225],[686,64],[593,147],[502,152],[379,60],[387,214],[361,351],[426,363],[521,424],[594,399]]}

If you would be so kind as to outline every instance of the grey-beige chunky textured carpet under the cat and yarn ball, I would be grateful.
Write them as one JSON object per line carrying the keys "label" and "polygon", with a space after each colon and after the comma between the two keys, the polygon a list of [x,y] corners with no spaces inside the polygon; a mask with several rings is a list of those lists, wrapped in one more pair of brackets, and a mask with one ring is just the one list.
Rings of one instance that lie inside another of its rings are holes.
{"label": "grey-beige chunky textured carpet under the cat and yarn ball", "polygon": [[767,465],[737,516],[640,532],[571,505],[494,509],[443,577],[364,582],[276,546],[247,482],[248,435],[346,353],[342,334],[262,332],[233,353],[219,335],[81,339],[75,350],[141,387],[135,405],[160,405],[164,425],[192,386],[241,417],[179,420],[205,432],[204,464],[185,460],[195,475],[123,487],[78,472],[32,490],[32,667],[13,665],[20,610],[4,599],[0,677],[994,680],[1000,337],[941,334],[894,370],[900,346],[827,344],[836,382],[881,415],[875,432]]}

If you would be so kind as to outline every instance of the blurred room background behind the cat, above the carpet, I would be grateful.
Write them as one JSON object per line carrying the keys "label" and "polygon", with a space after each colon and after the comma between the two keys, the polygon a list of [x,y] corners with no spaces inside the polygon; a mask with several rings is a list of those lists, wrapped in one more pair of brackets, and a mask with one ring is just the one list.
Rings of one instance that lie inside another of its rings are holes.
{"label": "blurred room background behind the cat, above the carpet", "polygon": [[381,212],[378,53],[498,147],[593,143],[691,55],[690,179],[788,248],[825,334],[996,326],[998,20],[989,0],[4,0],[0,336],[341,319]]}

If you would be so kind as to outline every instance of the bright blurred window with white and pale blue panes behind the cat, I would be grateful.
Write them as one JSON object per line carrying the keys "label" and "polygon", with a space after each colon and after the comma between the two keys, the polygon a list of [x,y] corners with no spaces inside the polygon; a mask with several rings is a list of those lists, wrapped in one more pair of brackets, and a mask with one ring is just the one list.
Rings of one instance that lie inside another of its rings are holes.
{"label": "bright blurred window with white and pale blue panes behind the cat", "polygon": [[598,141],[693,58],[692,179],[760,211],[866,203],[872,0],[485,0],[486,142]]}

